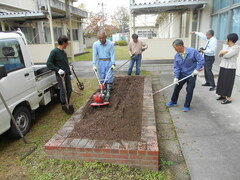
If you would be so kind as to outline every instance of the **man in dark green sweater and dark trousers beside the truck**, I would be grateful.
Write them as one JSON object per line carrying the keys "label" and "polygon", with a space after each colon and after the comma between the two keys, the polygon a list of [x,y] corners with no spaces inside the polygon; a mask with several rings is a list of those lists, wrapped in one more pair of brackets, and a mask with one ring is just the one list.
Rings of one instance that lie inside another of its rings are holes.
{"label": "man in dark green sweater and dark trousers beside the truck", "polygon": [[47,60],[47,66],[50,70],[55,71],[56,79],[58,82],[58,86],[60,89],[60,102],[62,105],[62,109],[65,111],[66,109],[66,100],[65,100],[65,93],[63,89],[63,83],[60,76],[64,76],[64,81],[67,90],[67,99],[68,103],[72,93],[72,84],[71,79],[73,76],[70,71],[70,67],[68,64],[67,53],[64,51],[68,46],[68,38],[65,35],[62,35],[58,38],[58,46],[54,48]]}

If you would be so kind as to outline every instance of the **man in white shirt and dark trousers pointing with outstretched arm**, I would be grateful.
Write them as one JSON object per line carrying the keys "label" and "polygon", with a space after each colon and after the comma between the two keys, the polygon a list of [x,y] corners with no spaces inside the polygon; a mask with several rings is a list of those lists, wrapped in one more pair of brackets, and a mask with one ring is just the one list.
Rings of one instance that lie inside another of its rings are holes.
{"label": "man in white shirt and dark trousers pointing with outstretched arm", "polygon": [[205,64],[204,64],[204,75],[206,83],[203,86],[211,86],[209,91],[214,91],[216,89],[214,76],[212,72],[212,65],[215,61],[215,55],[217,50],[217,39],[214,37],[214,31],[209,30],[206,35],[201,32],[191,32],[191,34],[196,34],[203,40],[206,40],[204,48],[200,48],[200,52],[204,54]]}

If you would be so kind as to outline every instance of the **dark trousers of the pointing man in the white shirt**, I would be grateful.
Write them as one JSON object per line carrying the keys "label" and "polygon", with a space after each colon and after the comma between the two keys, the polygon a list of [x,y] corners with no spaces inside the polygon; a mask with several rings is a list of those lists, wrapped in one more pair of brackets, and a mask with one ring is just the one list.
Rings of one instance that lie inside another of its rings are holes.
{"label": "dark trousers of the pointing man in the white shirt", "polygon": [[204,75],[205,75],[206,84],[209,84],[210,86],[215,87],[216,85],[215,85],[213,72],[212,72],[212,65],[215,61],[215,57],[204,55],[204,59],[205,59]]}

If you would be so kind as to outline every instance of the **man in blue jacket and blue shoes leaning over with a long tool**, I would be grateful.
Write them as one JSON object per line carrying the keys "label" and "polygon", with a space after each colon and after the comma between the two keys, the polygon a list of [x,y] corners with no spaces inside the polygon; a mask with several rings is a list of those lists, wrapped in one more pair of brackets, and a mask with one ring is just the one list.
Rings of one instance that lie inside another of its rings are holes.
{"label": "man in blue jacket and blue shoes leaning over with a long tool", "polygon": [[[172,94],[171,101],[168,102],[166,106],[172,107],[177,105],[179,93],[183,85],[187,83],[187,95],[183,108],[183,111],[187,112],[190,110],[189,108],[192,101],[197,74],[202,70],[205,60],[196,49],[184,47],[184,43],[181,39],[176,39],[172,45],[177,51],[177,54],[174,57],[173,81],[176,85]],[[192,76],[178,82],[179,80],[189,75]]]}

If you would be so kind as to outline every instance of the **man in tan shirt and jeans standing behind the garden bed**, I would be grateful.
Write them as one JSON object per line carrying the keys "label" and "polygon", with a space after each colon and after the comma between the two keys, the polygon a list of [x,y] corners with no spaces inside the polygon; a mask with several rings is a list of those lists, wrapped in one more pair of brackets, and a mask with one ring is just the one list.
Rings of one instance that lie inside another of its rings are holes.
{"label": "man in tan shirt and jeans standing behind the garden bed", "polygon": [[128,68],[128,75],[131,76],[133,66],[136,62],[136,75],[140,75],[140,67],[142,61],[142,52],[148,48],[147,44],[138,39],[137,34],[132,35],[132,41],[128,45],[131,61]]}

